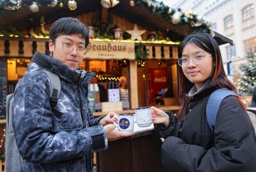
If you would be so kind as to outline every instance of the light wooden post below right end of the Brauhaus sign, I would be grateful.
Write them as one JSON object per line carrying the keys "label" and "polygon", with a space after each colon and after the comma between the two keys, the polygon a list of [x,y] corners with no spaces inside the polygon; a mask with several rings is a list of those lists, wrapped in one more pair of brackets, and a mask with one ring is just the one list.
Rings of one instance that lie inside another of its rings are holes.
{"label": "light wooden post below right end of the Brauhaus sign", "polygon": [[138,77],[137,77],[138,69],[137,62],[130,61],[129,65],[129,85],[130,85],[130,100],[131,100],[131,108],[138,108]]}

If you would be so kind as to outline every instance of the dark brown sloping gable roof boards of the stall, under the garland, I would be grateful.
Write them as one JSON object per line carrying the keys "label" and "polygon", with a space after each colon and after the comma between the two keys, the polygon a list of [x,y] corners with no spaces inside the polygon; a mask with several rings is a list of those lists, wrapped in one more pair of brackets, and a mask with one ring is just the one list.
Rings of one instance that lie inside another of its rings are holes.
{"label": "dark brown sloping gable roof boards of the stall, under the garland", "polygon": [[[4,10],[0,15],[0,31],[8,29],[10,27],[16,27],[19,31],[25,31],[29,27],[29,18],[33,18],[35,22],[34,26],[40,26],[40,17],[45,16],[45,22],[52,23],[61,17],[75,17],[84,13],[90,13],[92,11],[102,10],[100,0],[77,0],[77,9],[71,11],[64,6],[50,8],[48,6],[40,6],[40,10],[37,13],[32,13],[29,7],[22,7],[17,11]],[[152,12],[145,8],[145,6],[130,6],[129,0],[120,0],[120,3],[114,8],[108,9],[109,13],[118,15],[130,22],[137,23],[142,27],[145,27],[148,31],[161,31],[167,33],[172,41],[181,41],[186,34],[189,33],[189,25],[173,25],[171,20],[165,20],[161,15],[156,12]],[[231,39],[221,35],[214,31],[214,38],[218,41],[219,45],[225,43],[233,44]]]}

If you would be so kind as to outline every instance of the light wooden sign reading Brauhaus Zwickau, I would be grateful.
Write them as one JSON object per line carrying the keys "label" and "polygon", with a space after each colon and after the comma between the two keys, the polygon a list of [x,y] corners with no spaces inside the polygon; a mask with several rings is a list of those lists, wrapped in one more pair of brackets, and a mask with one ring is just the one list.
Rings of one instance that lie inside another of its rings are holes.
{"label": "light wooden sign reading Brauhaus Zwickau", "polygon": [[87,48],[89,52],[84,55],[84,59],[135,59],[134,43],[90,40],[90,44]]}

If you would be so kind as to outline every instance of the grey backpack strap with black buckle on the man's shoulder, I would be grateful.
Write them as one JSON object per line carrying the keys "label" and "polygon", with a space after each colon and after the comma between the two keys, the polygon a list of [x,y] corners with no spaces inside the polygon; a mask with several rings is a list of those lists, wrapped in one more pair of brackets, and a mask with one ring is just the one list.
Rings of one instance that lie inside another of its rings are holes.
{"label": "grey backpack strap with black buckle on the man's shoulder", "polygon": [[51,103],[51,106],[52,107],[56,106],[56,104],[58,103],[58,99],[60,97],[60,90],[61,90],[60,78],[56,73],[52,73],[51,71],[47,71],[45,69],[42,71],[44,71],[44,73],[46,73],[50,79],[50,89],[51,89],[50,103]]}

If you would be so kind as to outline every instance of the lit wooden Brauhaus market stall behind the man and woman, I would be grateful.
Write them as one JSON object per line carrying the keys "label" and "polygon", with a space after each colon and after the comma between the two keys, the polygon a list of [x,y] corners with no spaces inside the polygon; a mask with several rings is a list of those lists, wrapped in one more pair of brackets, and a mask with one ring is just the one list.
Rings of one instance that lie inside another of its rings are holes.
{"label": "lit wooden Brauhaus market stall behind the man and woman", "polygon": [[[117,82],[120,76],[127,77],[129,108],[126,111],[119,110],[118,113],[134,113],[134,108],[156,104],[156,93],[160,90],[153,92],[154,87],[150,84],[157,85],[160,82],[165,82],[164,87],[169,90],[168,97],[158,99],[163,103],[161,108],[179,110],[178,48],[179,42],[189,32],[195,29],[205,30],[211,32],[212,36],[215,33],[214,38],[220,45],[232,44],[232,40],[211,31],[202,18],[194,14],[191,15],[193,19],[188,18],[182,11],[154,0],[139,0],[136,4],[132,4],[130,0],[122,0],[116,6],[113,6],[113,1],[106,1],[112,8],[102,7],[102,0],[77,1],[76,6],[67,6],[70,1],[61,2],[62,7],[60,2],[50,7],[42,3],[36,13],[29,10],[29,1],[24,1],[22,8],[11,6],[17,10],[15,12],[0,6],[0,11],[4,11],[0,15],[0,138],[4,138],[6,95],[14,91],[16,83],[25,75],[36,51],[50,55],[48,32],[51,24],[58,18],[78,18],[89,29],[90,52],[84,57],[80,69],[96,72],[105,89],[109,89],[109,82]],[[174,20],[173,15],[178,13],[179,20]],[[191,20],[198,26],[192,25]],[[154,69],[163,69],[164,76],[150,78],[150,71]],[[99,116],[108,111],[110,109],[93,114]],[[130,144],[134,145],[138,140],[152,140],[155,136],[151,134],[152,130],[131,138]],[[4,143],[1,145],[0,153],[3,154]],[[148,151],[152,148],[154,146],[148,145]],[[102,159],[99,161],[102,163]]]}

